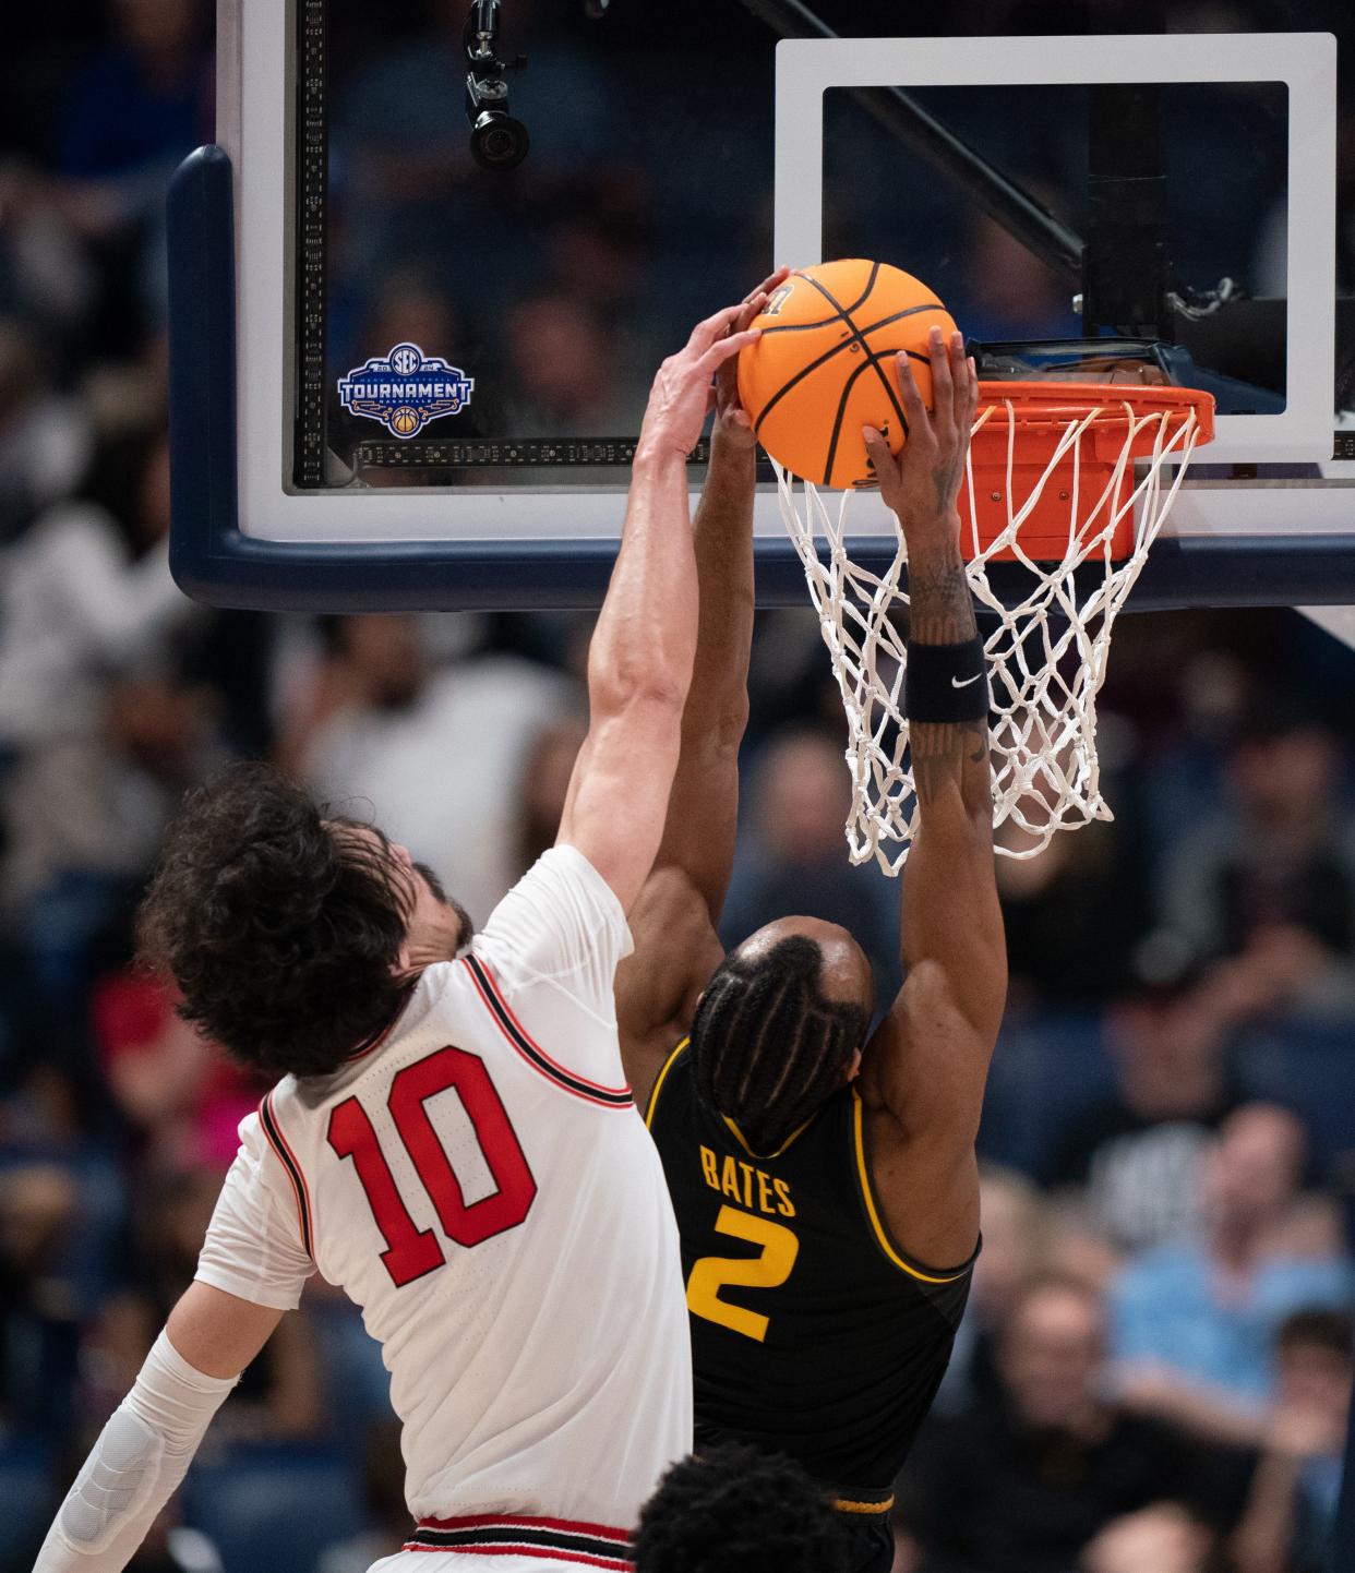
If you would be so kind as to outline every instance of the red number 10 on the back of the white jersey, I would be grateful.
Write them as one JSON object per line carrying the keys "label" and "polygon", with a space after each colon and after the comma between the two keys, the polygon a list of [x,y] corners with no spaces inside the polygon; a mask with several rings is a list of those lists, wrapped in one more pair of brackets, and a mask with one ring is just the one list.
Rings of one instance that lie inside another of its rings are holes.
{"label": "red number 10 on the back of the white jersey", "polygon": [[[469,1206],[423,1107],[450,1087],[461,1098],[497,1188]],[[483,1060],[452,1048],[415,1060],[392,1081],[387,1107],[449,1240],[458,1246],[478,1246],[522,1222],[537,1197],[537,1181]],[[447,1260],[442,1246],[431,1229],[419,1229],[409,1216],[371,1120],[357,1098],[346,1098],[330,1114],[329,1145],[340,1158],[353,1159],[371,1216],[386,1240],[381,1260],[395,1287],[403,1288],[441,1268]]]}

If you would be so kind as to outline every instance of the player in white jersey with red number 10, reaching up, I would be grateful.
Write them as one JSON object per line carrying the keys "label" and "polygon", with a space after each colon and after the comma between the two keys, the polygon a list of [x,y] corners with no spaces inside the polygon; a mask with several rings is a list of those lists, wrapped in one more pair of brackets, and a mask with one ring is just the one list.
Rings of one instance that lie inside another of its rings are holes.
{"label": "player in white jersey with red number 10, reaching up", "polygon": [[241,1125],[197,1280],[36,1573],[126,1567],[315,1271],[362,1306],[403,1422],[417,1527],[379,1568],[428,1573],[439,1551],[456,1573],[630,1565],[642,1502],[691,1447],[691,1361],[612,985],[692,672],[686,453],[763,299],[659,368],[560,838],[478,938],[403,848],[264,769],[203,788],[172,826],[151,953],[189,1019],[282,1081]]}

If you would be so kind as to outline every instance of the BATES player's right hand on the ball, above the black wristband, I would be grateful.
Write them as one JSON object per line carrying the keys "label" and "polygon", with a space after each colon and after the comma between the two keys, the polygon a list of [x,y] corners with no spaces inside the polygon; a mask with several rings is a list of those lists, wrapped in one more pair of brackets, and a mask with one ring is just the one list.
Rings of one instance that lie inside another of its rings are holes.
{"label": "BATES player's right hand on the ball, above the black wristband", "polygon": [[940,327],[927,337],[932,360],[932,401],[927,412],[913,378],[908,355],[899,355],[899,396],[908,417],[908,440],[895,459],[875,426],[862,426],[866,451],[880,481],[880,495],[899,514],[910,546],[919,536],[943,527],[952,540],[958,527],[955,500],[965,480],[965,456],[979,406],[979,379],[974,362],[965,354],[965,340],[952,333],[949,343]]}

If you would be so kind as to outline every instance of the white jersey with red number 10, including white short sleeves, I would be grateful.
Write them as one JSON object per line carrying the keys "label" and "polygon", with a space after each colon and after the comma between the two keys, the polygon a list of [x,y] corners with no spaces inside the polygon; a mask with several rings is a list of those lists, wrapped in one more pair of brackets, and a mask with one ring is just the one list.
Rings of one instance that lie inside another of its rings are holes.
{"label": "white jersey with red number 10, including white short sleeves", "polygon": [[663,1167],[625,1085],[620,903],[546,853],[376,1046],[288,1078],[241,1125],[198,1277],[362,1307],[419,1520],[628,1527],[691,1449],[691,1354]]}

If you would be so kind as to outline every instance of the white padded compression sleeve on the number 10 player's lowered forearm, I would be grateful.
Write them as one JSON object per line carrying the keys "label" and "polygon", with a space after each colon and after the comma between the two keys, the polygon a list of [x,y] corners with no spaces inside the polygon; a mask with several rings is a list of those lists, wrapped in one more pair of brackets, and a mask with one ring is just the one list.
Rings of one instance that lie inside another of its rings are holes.
{"label": "white padded compression sleeve on the number 10 player's lowered forearm", "polygon": [[205,1376],[162,1332],[85,1460],[33,1573],[121,1573],[238,1380]]}

